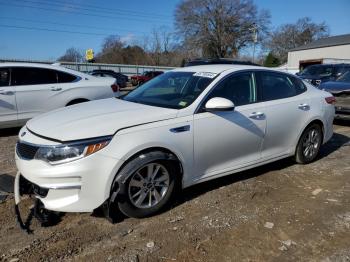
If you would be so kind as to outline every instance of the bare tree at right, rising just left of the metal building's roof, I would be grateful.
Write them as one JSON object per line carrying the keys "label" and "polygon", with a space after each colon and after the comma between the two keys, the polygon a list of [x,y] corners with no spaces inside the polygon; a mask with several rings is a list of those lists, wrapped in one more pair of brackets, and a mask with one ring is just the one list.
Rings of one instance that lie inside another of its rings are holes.
{"label": "bare tree at right, rising just left of the metal building's roof", "polygon": [[272,32],[264,46],[281,62],[286,62],[289,50],[328,35],[329,28],[325,22],[317,24],[309,17],[304,17],[295,24],[279,26]]}

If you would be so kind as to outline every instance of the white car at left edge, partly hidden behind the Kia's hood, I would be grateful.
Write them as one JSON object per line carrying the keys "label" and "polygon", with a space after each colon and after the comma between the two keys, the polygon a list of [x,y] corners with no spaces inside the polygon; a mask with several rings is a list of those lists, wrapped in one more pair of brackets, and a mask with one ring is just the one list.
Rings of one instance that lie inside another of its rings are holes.
{"label": "white car at left edge, partly hidden behind the Kia's hood", "polygon": [[59,65],[0,63],[0,128],[23,125],[47,111],[119,96],[113,78],[98,78]]}

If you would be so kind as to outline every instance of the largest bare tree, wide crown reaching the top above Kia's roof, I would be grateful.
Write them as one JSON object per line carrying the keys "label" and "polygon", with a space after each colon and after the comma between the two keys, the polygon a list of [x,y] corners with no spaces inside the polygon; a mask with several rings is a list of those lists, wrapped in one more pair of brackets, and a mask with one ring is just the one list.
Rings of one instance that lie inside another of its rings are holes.
{"label": "largest bare tree, wide crown reaching the top above Kia's roof", "polygon": [[252,0],[183,0],[175,11],[175,26],[184,44],[203,56],[236,57],[253,42],[251,29],[268,31],[270,14]]}

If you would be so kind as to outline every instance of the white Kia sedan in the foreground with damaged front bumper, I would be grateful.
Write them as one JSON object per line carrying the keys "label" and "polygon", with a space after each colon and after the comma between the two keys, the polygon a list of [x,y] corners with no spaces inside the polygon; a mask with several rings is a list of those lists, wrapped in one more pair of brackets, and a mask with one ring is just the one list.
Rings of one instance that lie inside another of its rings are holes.
{"label": "white Kia sedan in the foreground with damaged front bumper", "polygon": [[16,147],[16,203],[26,185],[48,210],[115,203],[129,217],[149,216],[177,188],[290,156],[315,160],[333,133],[333,103],[296,76],[263,67],[175,69],[121,99],[30,120]]}

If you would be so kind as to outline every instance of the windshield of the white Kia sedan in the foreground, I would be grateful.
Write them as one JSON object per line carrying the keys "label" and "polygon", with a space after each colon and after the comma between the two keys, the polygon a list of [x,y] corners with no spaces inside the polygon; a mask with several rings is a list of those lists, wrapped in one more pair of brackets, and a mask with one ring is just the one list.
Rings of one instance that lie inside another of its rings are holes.
{"label": "windshield of the white Kia sedan in the foreground", "polygon": [[145,105],[181,109],[189,106],[213,81],[216,74],[167,72],[123,97]]}

